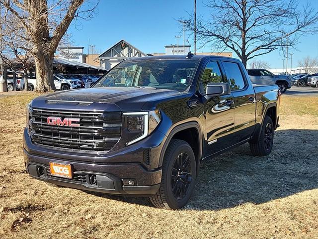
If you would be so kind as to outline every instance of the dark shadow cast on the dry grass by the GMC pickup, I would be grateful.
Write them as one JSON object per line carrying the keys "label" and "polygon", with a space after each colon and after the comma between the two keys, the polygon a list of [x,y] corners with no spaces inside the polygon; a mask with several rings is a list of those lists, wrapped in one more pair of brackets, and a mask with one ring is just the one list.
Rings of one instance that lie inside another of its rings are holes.
{"label": "dark shadow cast on the dry grass by the GMC pickup", "polygon": [[[185,209],[218,210],[241,203],[265,203],[318,188],[318,130],[275,132],[273,151],[252,156],[248,144],[200,166],[196,189]],[[151,206],[147,198],[90,193],[132,204]]]}

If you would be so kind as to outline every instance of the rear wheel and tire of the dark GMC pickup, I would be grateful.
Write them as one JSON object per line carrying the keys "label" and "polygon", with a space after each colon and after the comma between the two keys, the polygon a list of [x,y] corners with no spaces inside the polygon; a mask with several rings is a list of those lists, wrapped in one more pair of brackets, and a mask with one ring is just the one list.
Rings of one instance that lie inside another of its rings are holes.
{"label": "rear wheel and tire of the dark GMC pickup", "polygon": [[250,151],[254,156],[266,156],[272,151],[274,142],[274,124],[269,116],[265,116],[259,138],[250,142]]}

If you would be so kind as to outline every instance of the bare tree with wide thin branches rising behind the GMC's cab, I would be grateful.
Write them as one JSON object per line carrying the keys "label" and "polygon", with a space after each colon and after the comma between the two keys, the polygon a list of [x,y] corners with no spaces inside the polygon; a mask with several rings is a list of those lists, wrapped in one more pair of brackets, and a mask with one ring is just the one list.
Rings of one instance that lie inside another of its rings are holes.
{"label": "bare tree with wide thin branches rising behind the GMC's cab", "polygon": [[[192,14],[186,27],[196,29],[197,39],[219,50],[233,50],[243,65],[282,46],[293,47],[301,35],[317,29],[318,12],[298,0],[208,0],[210,17]],[[288,39],[288,40],[287,40]]]}

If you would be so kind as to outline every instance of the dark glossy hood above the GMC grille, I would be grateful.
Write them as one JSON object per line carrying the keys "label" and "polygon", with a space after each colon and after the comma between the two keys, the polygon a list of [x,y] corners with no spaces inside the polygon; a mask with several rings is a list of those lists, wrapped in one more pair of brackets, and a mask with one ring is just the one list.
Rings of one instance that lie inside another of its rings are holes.
{"label": "dark glossy hood above the GMC grille", "polygon": [[[105,111],[141,111],[145,103],[155,107],[161,101],[183,95],[179,91],[166,89],[105,87],[59,91],[43,95],[32,102],[32,107],[50,109],[74,109]],[[80,105],[80,106],[79,106]]]}

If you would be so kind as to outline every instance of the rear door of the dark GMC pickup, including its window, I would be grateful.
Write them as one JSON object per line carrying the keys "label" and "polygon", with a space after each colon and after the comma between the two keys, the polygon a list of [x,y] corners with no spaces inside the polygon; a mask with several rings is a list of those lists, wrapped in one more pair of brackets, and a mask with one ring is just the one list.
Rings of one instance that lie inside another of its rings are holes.
{"label": "rear door of the dark GMC pickup, including its window", "polygon": [[239,61],[226,59],[222,61],[222,64],[230,82],[231,93],[234,98],[234,141],[239,143],[249,138],[255,129],[255,92]]}

